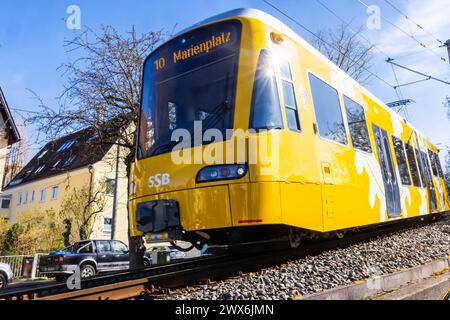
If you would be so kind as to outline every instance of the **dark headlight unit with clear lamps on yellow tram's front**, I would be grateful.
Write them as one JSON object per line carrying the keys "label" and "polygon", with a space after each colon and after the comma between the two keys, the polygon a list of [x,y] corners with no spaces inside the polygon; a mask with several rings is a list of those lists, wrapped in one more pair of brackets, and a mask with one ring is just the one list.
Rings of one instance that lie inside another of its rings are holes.
{"label": "dark headlight unit with clear lamps on yellow tram's front", "polygon": [[210,166],[200,170],[197,175],[197,183],[242,179],[247,172],[246,164]]}

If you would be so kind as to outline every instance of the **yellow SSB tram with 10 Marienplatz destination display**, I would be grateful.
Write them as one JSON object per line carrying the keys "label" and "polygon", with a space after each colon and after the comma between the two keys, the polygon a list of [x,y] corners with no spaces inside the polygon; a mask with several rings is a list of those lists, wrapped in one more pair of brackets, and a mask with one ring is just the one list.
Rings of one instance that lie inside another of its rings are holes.
{"label": "yellow SSB tram with 10 Marienplatz destination display", "polygon": [[130,223],[148,241],[295,247],[449,210],[439,150],[258,10],[208,19],[147,58],[138,136]]}

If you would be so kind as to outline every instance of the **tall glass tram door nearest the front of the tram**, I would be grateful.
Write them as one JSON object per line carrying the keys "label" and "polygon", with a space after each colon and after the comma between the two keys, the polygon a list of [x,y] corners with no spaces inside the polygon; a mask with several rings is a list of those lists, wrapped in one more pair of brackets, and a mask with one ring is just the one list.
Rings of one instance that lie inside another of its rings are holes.
{"label": "tall glass tram door nearest the front of the tram", "polygon": [[392,152],[387,132],[373,125],[378,158],[380,160],[381,174],[383,176],[386,207],[389,218],[397,218],[402,214],[400,202],[400,189],[395,174]]}

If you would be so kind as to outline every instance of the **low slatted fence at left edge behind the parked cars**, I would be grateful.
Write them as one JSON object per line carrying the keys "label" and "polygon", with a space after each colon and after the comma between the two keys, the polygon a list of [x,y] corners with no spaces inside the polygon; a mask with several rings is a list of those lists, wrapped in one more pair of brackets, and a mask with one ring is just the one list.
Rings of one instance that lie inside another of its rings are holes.
{"label": "low slatted fence at left edge behind the parked cars", "polygon": [[44,255],[45,254],[37,253],[34,256],[26,256],[26,255],[5,256],[0,257],[0,263],[6,263],[11,267],[11,271],[13,272],[15,279],[42,278],[42,276],[39,273],[39,260]]}

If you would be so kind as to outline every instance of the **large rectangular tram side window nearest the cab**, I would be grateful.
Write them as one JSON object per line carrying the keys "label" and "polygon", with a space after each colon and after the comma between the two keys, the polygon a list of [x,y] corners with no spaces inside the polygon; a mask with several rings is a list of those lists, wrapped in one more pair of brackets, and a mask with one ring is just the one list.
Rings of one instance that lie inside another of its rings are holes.
{"label": "large rectangular tram side window nearest the cab", "polygon": [[336,89],[309,74],[319,135],[340,144],[347,145],[339,94]]}

